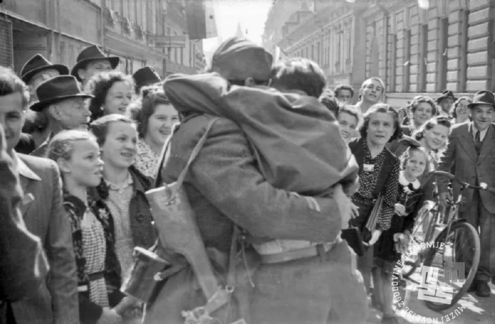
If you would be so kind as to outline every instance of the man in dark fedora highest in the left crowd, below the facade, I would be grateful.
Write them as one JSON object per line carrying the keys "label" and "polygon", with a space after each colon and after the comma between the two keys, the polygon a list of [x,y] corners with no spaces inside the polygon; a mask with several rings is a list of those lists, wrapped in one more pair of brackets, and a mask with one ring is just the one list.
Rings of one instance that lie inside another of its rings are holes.
{"label": "man in dark fedora highest in the left crowd, below the facade", "polygon": [[83,87],[97,73],[109,72],[115,70],[119,65],[120,58],[118,56],[107,56],[96,45],[92,45],[83,49],[77,55],[76,65],[70,72],[75,76]]}

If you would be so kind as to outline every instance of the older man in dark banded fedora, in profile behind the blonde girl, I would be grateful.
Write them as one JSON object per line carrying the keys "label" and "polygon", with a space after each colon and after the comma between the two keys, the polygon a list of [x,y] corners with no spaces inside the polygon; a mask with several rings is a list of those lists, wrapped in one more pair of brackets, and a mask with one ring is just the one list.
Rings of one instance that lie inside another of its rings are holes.
{"label": "older man in dark banded fedora, in profile behind the blonde girl", "polygon": [[93,95],[83,93],[75,77],[60,75],[42,83],[36,89],[39,101],[29,107],[33,111],[43,112],[49,119],[50,135],[43,144],[31,153],[45,156],[50,139],[63,130],[83,128],[88,125],[91,112],[85,100]]}

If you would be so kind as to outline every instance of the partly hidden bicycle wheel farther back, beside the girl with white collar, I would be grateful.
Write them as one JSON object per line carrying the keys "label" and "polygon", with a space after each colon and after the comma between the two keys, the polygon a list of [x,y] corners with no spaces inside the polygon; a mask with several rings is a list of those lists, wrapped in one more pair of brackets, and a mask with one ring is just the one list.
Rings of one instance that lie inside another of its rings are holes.
{"label": "partly hidden bicycle wheel farther back, beside the girl with white collar", "polygon": [[439,219],[440,209],[433,202],[425,205],[418,212],[416,225],[411,234],[411,248],[409,250],[417,253],[408,253],[402,259],[402,277],[409,278],[425,259],[426,250],[419,248],[421,243],[431,242],[435,233],[436,223]]}

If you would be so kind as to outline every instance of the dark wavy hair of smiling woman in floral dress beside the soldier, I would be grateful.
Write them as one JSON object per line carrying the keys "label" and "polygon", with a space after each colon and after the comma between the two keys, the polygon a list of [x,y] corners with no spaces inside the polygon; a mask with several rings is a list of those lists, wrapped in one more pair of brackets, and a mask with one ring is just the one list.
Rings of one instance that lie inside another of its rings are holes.
{"label": "dark wavy hair of smiling woman in floral dress beside the soldier", "polygon": [[148,131],[149,117],[155,112],[159,104],[171,104],[162,86],[147,86],[141,88],[142,97],[129,106],[131,118],[138,123],[138,134],[141,138]]}

